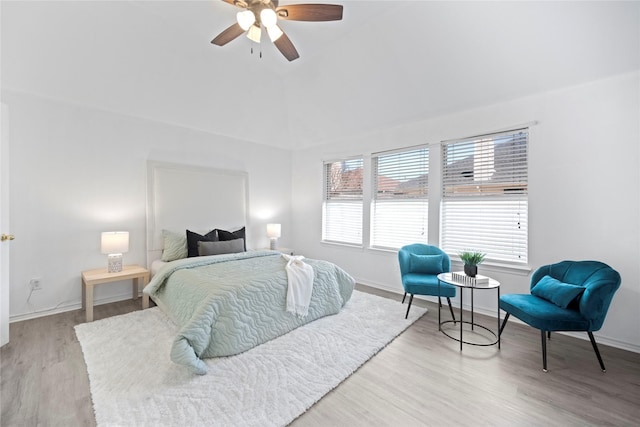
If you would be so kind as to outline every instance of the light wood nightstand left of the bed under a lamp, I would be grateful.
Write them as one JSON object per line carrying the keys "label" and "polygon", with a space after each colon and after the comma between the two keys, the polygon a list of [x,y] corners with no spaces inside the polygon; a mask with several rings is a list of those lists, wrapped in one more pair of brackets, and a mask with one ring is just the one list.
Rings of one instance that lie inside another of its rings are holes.
{"label": "light wood nightstand left of the bed under a lamp", "polygon": [[82,309],[87,312],[87,322],[93,321],[93,287],[103,283],[133,280],[133,298],[138,299],[138,285],[142,280],[144,288],[149,283],[149,270],[139,265],[125,265],[122,271],[109,273],[106,268],[82,272]]}

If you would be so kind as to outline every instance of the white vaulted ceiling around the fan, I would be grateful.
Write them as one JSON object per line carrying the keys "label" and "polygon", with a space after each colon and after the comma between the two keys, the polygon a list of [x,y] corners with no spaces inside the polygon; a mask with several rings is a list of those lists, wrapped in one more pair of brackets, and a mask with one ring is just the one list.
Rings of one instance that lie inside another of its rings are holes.
{"label": "white vaulted ceiling around the fan", "polygon": [[[304,3],[281,0],[281,5]],[[640,2],[323,1],[300,53],[207,1],[6,1],[3,89],[297,148],[640,69]]]}

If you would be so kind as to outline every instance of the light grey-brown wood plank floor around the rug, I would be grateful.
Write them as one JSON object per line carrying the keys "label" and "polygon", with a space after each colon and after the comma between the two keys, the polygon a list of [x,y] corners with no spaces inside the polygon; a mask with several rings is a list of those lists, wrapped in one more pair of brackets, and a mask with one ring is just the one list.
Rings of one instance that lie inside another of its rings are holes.
{"label": "light grey-brown wood plank floor around the rug", "polygon": [[[397,299],[404,315],[397,295],[359,289]],[[292,426],[638,425],[639,354],[600,345],[602,373],[588,341],[554,334],[544,373],[538,331],[510,322],[501,350],[465,345],[460,352],[438,332],[437,307],[414,304],[429,312]],[[140,300],[101,305],[94,318],[138,309]],[[0,352],[0,425],[95,425],[73,329],[84,316],[78,310],[11,324],[10,343]],[[494,328],[494,319],[476,320]]]}

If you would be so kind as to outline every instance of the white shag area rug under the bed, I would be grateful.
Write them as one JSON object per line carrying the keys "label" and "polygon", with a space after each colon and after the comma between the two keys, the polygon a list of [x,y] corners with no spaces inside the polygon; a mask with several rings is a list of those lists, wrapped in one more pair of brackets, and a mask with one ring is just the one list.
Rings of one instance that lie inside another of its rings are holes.
{"label": "white shag area rug under the bed", "polygon": [[193,375],[169,360],[175,324],[157,307],[77,325],[98,426],[283,426],[420,318],[354,291],[343,310]]}

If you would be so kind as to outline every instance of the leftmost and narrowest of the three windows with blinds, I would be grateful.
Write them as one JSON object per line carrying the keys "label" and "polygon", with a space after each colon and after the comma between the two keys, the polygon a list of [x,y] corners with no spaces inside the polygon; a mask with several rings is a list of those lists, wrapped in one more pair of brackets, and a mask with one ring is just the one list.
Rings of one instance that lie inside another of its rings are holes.
{"label": "leftmost and narrowest of the three windows with blinds", "polygon": [[324,164],[322,240],[362,244],[363,159]]}

